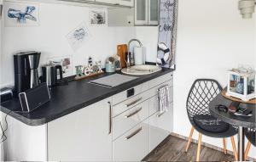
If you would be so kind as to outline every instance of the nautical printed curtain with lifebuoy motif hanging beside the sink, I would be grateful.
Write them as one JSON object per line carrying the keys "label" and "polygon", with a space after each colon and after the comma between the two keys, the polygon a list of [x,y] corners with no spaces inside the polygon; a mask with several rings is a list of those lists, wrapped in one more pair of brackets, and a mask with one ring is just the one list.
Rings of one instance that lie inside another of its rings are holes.
{"label": "nautical printed curtain with lifebuoy motif hanging beside the sink", "polygon": [[160,0],[157,64],[175,69],[178,0]]}

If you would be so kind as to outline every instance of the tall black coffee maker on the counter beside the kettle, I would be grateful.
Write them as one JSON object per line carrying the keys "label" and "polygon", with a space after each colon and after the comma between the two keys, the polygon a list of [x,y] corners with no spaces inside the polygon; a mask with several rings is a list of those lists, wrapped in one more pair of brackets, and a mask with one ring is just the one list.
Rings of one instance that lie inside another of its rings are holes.
{"label": "tall black coffee maker on the counter beside the kettle", "polygon": [[38,65],[41,53],[31,51],[25,53],[17,53],[14,55],[15,63],[15,96],[20,92],[37,87]]}

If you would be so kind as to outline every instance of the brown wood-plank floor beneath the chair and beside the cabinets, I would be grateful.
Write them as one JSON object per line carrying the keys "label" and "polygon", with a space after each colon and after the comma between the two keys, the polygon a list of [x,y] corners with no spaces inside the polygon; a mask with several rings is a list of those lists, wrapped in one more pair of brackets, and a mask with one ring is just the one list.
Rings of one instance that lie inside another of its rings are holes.
{"label": "brown wood-plank floor beneath the chair and beside the cabinets", "polygon": [[[197,144],[191,142],[188,153],[185,153],[186,140],[178,137],[167,137],[143,161],[195,161]],[[201,146],[201,161],[234,161],[230,154],[224,154],[212,148]]]}

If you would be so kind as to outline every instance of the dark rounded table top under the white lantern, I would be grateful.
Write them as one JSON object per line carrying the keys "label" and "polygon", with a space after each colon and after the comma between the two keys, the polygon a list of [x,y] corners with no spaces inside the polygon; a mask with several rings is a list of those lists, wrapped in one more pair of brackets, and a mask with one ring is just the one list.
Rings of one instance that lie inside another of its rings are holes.
{"label": "dark rounded table top under the white lantern", "polygon": [[240,103],[240,107],[253,110],[253,116],[251,117],[237,116],[233,113],[224,113],[216,109],[216,105],[218,104],[222,104],[226,107],[229,107],[230,103],[232,103],[230,99],[224,98],[222,94],[219,93],[218,96],[214,98],[212,102],[209,104],[211,115],[234,126],[242,126],[256,129],[256,104]]}

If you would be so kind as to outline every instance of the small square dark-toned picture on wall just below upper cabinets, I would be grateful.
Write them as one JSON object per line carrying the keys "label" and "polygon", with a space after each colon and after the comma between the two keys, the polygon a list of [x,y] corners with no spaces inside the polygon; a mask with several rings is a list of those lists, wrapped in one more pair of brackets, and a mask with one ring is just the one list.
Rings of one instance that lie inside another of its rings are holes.
{"label": "small square dark-toned picture on wall just below upper cabinets", "polygon": [[90,25],[107,26],[108,10],[107,9],[90,9]]}

